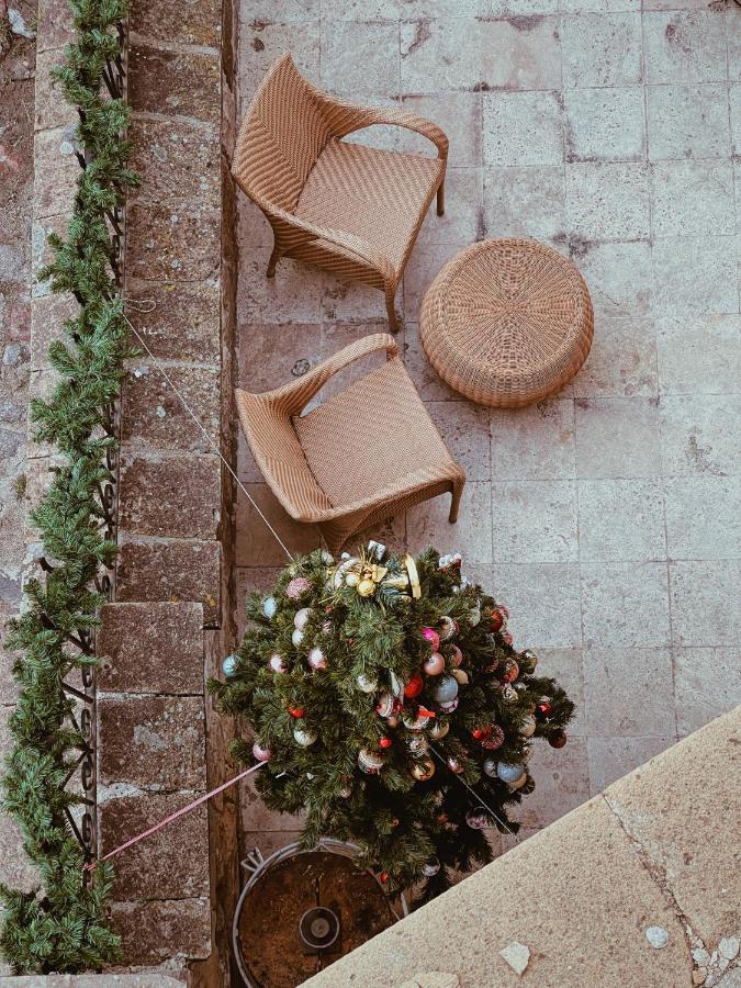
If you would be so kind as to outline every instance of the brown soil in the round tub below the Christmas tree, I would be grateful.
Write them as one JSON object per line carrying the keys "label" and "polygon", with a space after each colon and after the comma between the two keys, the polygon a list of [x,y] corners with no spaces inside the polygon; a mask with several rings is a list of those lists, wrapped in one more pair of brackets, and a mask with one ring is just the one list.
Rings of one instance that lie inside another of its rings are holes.
{"label": "brown soil in the round tub below the Christmas tree", "polygon": [[[322,958],[299,936],[314,906],[339,916],[337,950]],[[381,887],[352,861],[325,851],[294,855],[267,869],[245,898],[239,917],[242,956],[260,988],[294,988],[396,921]]]}

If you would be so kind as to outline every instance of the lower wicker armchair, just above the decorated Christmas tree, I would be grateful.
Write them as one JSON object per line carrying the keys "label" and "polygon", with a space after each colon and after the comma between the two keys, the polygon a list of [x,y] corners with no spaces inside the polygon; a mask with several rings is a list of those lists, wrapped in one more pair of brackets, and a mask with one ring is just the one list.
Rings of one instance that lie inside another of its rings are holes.
{"label": "lower wicker armchair, just above the decorated Christmas tree", "polygon": [[[302,409],[339,370],[377,351],[386,362],[318,407]],[[435,428],[388,333],[366,336],[296,381],[265,394],[236,391],[257,465],[283,508],[318,525],[330,551],[406,507],[452,493],[465,474]]]}

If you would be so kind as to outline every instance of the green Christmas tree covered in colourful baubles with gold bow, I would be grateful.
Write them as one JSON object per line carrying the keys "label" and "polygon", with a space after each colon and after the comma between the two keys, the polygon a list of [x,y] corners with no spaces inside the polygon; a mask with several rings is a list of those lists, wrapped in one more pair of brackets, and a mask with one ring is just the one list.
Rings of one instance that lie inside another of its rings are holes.
{"label": "green Christmas tree covered in colourful baubles with gold bow", "polygon": [[491,861],[484,828],[517,831],[532,741],[561,748],[573,704],[515,651],[506,607],[460,557],[317,550],[247,616],[211,686],[254,734],[234,754],[266,762],[266,805],[304,813],[303,844],[352,841],[390,891],[424,878],[423,900]]}

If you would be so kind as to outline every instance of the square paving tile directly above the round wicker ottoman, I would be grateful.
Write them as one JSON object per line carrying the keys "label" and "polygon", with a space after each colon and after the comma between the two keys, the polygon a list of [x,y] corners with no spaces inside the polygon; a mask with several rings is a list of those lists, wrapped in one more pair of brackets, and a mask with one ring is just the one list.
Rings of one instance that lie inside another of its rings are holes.
{"label": "square paving tile directly above the round wicker ottoman", "polygon": [[564,201],[562,166],[484,170],[486,236],[538,240],[563,236]]}

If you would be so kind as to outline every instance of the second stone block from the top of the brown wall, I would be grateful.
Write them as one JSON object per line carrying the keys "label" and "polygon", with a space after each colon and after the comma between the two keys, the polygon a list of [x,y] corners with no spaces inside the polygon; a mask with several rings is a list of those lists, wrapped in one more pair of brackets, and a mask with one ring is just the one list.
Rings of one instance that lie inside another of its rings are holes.
{"label": "second stone block from the top of the brown wall", "polygon": [[221,70],[217,54],[165,52],[146,44],[132,45],[128,50],[128,102],[133,110],[194,116],[218,124]]}

